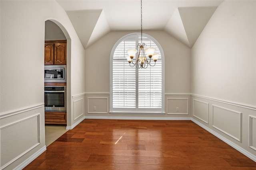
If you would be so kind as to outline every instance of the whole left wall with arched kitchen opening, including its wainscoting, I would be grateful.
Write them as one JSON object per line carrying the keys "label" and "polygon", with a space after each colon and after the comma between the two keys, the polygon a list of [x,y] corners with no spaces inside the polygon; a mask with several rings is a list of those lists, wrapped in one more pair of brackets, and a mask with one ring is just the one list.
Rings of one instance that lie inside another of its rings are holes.
{"label": "whole left wall with arched kitchen opening, including its wainscoting", "polygon": [[[56,21],[68,39],[68,111],[71,96],[84,92],[84,49],[66,12],[56,1],[0,1],[1,169],[26,166],[43,152],[44,27]],[[72,83],[71,83],[72,82]],[[19,146],[16,148],[15,146]]]}

